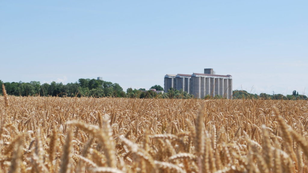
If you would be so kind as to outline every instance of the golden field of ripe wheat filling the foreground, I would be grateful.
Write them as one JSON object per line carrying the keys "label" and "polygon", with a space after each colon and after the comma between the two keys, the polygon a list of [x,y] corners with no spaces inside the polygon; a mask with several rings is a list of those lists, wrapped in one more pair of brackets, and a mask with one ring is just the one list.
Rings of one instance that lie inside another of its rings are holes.
{"label": "golden field of ripe wheat filling the foreground", "polygon": [[308,172],[307,101],[1,96],[0,110],[0,172]]}

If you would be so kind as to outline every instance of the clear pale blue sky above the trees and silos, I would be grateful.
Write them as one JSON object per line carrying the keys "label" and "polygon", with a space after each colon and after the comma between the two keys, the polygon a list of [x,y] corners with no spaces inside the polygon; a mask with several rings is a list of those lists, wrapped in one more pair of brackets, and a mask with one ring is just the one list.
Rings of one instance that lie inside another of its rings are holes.
{"label": "clear pale blue sky above the trees and silos", "polygon": [[0,80],[164,87],[165,74],[308,93],[308,1],[0,1]]}

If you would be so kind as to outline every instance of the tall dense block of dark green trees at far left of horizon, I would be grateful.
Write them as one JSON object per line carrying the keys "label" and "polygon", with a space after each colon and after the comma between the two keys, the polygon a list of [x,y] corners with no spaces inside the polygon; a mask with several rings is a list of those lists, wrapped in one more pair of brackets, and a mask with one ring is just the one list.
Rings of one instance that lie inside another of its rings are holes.
{"label": "tall dense block of dark green trees at far left of horizon", "polygon": [[[0,80],[0,84],[2,85]],[[59,97],[125,97],[126,93],[118,83],[96,79],[80,78],[78,82],[63,84],[51,82],[4,82],[6,93],[15,96],[59,96]],[[2,93],[2,88],[0,89]]]}

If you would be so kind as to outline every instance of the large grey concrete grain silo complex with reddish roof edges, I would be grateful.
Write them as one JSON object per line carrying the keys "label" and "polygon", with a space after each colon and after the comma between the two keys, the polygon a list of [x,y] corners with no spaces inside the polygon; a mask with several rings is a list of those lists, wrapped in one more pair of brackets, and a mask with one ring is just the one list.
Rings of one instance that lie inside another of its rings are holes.
{"label": "large grey concrete grain silo complex with reddish roof edges", "polygon": [[170,88],[183,90],[196,98],[204,98],[206,95],[221,95],[224,98],[232,98],[232,76],[217,75],[213,69],[204,69],[204,73],[190,74],[166,74],[164,78],[164,92]]}

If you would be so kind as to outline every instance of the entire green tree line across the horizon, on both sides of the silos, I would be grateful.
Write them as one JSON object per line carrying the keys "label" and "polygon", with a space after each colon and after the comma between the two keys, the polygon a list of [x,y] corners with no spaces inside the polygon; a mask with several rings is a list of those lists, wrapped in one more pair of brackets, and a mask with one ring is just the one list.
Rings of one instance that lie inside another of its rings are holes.
{"label": "entire green tree line across the horizon, on both sides of the silos", "polygon": [[[167,93],[156,93],[155,91],[146,90],[145,88],[132,89],[128,88],[126,92],[118,83],[107,82],[96,79],[80,78],[78,82],[63,84],[62,82],[43,83],[37,81],[31,82],[2,82],[4,84],[6,93],[15,96],[58,96],[58,97],[128,97],[128,98],[169,98],[169,99],[189,99],[194,98],[183,90],[176,90],[170,88]],[[163,91],[164,88],[160,85],[154,85],[150,89],[156,91]],[[0,87],[0,95],[2,94],[2,87]],[[282,94],[265,94],[261,93],[250,94],[245,90],[233,91],[233,99],[283,99],[283,100],[298,100],[307,99],[306,95],[300,95],[297,91],[293,91],[292,95]],[[217,95],[211,97],[205,96],[203,99],[222,99],[222,96]]]}

